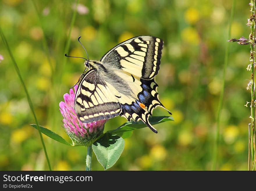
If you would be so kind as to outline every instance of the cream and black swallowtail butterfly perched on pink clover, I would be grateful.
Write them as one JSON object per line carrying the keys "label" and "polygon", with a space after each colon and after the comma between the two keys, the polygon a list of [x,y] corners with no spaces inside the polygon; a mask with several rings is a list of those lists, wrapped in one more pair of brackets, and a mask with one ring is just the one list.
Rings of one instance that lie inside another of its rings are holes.
{"label": "cream and black swallowtail butterfly perched on pink clover", "polygon": [[81,122],[91,123],[120,115],[128,121],[142,120],[157,133],[149,117],[158,106],[166,109],[159,101],[158,85],[154,80],[162,49],[163,40],[153,36],[126,40],[110,49],[99,61],[89,60],[85,49],[84,65],[88,72],[83,74],[74,101]]}

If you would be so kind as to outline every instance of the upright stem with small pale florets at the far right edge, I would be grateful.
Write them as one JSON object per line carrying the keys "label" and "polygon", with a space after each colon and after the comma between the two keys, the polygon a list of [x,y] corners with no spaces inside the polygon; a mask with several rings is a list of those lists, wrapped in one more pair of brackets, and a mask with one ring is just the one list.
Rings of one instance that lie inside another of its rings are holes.
{"label": "upright stem with small pale florets at the far right edge", "polygon": [[254,82],[254,72],[255,72],[255,52],[254,52],[254,46],[255,46],[255,0],[251,0],[251,33],[249,35],[249,40],[251,42],[250,44],[250,65],[251,65],[251,156],[252,156],[252,170],[254,170],[254,164],[255,164],[255,103],[254,103],[254,90],[255,90],[255,82]]}

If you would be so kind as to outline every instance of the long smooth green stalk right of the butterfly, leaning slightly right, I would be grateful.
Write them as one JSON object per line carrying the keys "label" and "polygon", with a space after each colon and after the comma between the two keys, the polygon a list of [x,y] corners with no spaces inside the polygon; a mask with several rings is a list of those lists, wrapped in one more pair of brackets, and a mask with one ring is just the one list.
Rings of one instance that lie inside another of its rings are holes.
{"label": "long smooth green stalk right of the butterfly, leaning slightly right", "polygon": [[[227,39],[230,39],[231,24],[233,22],[233,17],[234,17],[235,2],[236,1],[233,0]],[[224,65],[223,65],[222,88],[221,88],[220,99],[219,99],[218,110],[217,110],[217,127],[216,127],[216,135],[214,140],[213,160],[212,160],[211,170],[216,170],[216,164],[217,164],[217,158],[218,158],[218,147],[219,147],[219,139],[220,139],[220,116],[221,116],[221,109],[223,105],[223,96],[224,96],[224,90],[225,90],[225,76],[226,76],[226,68],[227,68],[227,61],[228,61],[228,55],[229,55],[229,47],[230,47],[230,43],[227,43],[226,49],[225,49]]]}

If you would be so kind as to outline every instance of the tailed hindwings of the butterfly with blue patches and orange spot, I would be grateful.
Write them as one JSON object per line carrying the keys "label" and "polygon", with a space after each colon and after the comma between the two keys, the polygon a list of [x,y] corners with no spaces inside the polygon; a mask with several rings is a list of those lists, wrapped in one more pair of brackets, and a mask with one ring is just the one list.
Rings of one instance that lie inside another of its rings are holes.
{"label": "tailed hindwings of the butterfly with blue patches and orange spot", "polygon": [[[120,115],[129,121],[131,119],[134,121],[142,120],[152,131],[157,133],[157,130],[148,121],[154,108],[161,106],[166,109],[159,101],[157,83],[154,79],[144,80],[120,70],[116,71],[116,74],[128,83],[132,91],[132,96],[127,96],[120,92],[120,96],[117,97],[122,106]],[[170,113],[170,111],[168,112]]]}

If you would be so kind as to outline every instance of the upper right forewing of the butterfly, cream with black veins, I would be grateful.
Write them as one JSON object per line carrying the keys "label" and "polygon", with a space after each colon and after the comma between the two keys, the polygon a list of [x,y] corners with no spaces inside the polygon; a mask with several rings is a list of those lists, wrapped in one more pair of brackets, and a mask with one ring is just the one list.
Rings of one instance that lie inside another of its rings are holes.
{"label": "upper right forewing of the butterfly, cream with black veins", "polygon": [[157,75],[163,40],[153,36],[138,36],[109,50],[100,61],[145,80]]}

